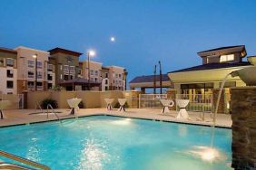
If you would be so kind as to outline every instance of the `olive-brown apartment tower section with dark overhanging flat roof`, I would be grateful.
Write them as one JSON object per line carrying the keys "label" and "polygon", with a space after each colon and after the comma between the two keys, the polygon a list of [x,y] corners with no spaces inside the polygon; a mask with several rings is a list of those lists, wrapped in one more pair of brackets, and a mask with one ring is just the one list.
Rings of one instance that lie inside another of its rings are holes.
{"label": "olive-brown apartment tower section with dark overhanging flat roof", "polygon": [[[63,83],[67,80],[74,80],[78,77],[80,72],[79,57],[82,53],[58,47],[48,52],[50,52],[49,64],[54,65],[56,84]],[[70,90],[72,87],[66,88]]]}

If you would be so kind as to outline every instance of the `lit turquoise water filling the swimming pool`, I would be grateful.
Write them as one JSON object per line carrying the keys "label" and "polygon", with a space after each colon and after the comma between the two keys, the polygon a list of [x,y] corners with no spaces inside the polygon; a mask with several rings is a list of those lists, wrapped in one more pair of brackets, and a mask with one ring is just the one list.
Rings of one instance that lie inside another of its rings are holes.
{"label": "lit turquoise water filling the swimming pool", "polygon": [[231,129],[215,128],[214,159],[211,140],[211,127],[108,116],[0,128],[1,150],[56,170],[231,169]]}

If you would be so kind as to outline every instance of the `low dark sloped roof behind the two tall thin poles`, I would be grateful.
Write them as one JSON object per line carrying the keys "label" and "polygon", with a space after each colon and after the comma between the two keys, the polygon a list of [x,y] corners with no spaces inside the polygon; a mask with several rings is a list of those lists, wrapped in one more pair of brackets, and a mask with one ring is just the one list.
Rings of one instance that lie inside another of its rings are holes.
{"label": "low dark sloped roof behind the two tall thin poles", "polygon": [[[154,75],[148,75],[148,76],[137,76],[133,80],[131,80],[129,83],[141,83],[141,82],[153,82]],[[169,77],[167,74],[162,74],[162,81],[169,81]],[[160,75],[156,75],[156,81],[160,81]]]}

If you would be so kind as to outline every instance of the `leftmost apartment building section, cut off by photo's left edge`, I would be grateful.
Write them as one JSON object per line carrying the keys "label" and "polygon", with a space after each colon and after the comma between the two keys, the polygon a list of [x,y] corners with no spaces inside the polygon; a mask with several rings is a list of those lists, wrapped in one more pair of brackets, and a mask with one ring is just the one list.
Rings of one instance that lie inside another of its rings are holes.
{"label": "leftmost apartment building section, cut off by photo's left edge", "polygon": [[17,52],[0,48],[0,94],[17,93]]}

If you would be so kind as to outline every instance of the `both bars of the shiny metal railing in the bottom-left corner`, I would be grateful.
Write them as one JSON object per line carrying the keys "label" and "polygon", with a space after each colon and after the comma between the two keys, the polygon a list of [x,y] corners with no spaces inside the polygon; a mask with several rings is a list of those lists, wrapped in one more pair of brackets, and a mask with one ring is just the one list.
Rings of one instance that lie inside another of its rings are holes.
{"label": "both bars of the shiny metal railing in the bottom-left corner", "polygon": [[[20,156],[15,156],[13,154],[10,154],[10,153],[7,153],[5,151],[2,151],[0,150],[0,156],[4,156],[6,158],[9,158],[9,159],[12,159],[12,160],[15,160],[19,163],[22,163],[22,164],[25,164],[25,165],[29,165],[29,166],[32,166],[32,167],[35,167],[35,168],[39,168],[39,169],[43,169],[43,170],[50,170],[50,167],[48,167],[47,165],[43,165],[43,164],[39,164],[39,163],[36,163],[34,161],[31,161],[31,160],[28,160],[24,157],[20,157]],[[22,165],[15,165],[15,164],[8,164],[8,163],[1,163],[0,164],[0,169],[21,169],[21,170],[28,170],[28,169],[31,169],[29,167],[24,167]]]}

